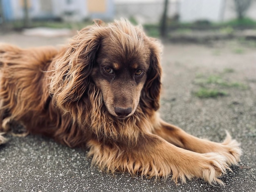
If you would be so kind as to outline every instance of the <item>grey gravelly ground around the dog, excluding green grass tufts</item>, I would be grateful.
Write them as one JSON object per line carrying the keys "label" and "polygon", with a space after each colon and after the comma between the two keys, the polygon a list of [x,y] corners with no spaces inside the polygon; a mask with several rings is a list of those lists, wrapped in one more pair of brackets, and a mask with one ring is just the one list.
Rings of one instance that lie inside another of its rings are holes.
{"label": "grey gravelly ground around the dog, excluding green grass tufts", "polygon": [[[21,47],[57,45],[67,37],[39,38],[17,33],[2,34],[0,42]],[[256,44],[214,42],[211,45],[166,44],[162,59],[162,118],[200,138],[221,142],[225,130],[241,143],[238,166],[222,177],[223,187],[212,187],[200,179],[175,185],[171,179],[157,181],[109,174],[91,167],[81,149],[70,149],[50,138],[29,135],[13,137],[0,146],[0,192],[256,192]],[[198,98],[193,92],[198,79],[220,76],[243,86],[217,86],[227,92],[219,98]]]}

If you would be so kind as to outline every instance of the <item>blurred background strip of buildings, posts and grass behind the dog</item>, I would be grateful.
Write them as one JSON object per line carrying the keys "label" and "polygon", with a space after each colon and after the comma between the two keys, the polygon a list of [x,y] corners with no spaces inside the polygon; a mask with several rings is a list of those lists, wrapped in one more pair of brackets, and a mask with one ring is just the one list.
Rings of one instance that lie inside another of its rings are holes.
{"label": "blurred background strip of buildings, posts and grass behind the dog", "polygon": [[121,17],[172,41],[256,37],[255,0],[0,0],[1,31],[77,30]]}

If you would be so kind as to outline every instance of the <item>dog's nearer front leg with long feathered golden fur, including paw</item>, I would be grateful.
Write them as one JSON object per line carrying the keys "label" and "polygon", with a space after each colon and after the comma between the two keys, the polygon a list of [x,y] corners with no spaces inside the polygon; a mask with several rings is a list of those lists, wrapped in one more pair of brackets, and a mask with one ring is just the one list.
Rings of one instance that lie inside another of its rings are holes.
{"label": "dog's nearer front leg with long feathered golden fur, including paw", "polygon": [[110,172],[129,172],[132,175],[167,178],[186,182],[186,178],[201,178],[212,185],[229,169],[227,159],[219,153],[200,154],[168,143],[153,134],[141,135],[133,145],[112,141],[89,141],[92,163]]}

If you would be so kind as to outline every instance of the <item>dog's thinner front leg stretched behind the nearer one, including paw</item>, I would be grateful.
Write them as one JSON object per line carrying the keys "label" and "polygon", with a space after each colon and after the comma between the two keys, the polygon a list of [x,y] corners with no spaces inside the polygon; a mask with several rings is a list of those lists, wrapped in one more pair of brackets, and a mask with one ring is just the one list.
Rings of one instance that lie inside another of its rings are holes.
{"label": "dog's thinner front leg stretched behind the nearer one, including paw", "polygon": [[240,144],[236,140],[232,140],[228,132],[225,141],[215,143],[187,134],[179,127],[161,120],[155,128],[154,134],[186,150],[198,153],[218,152],[227,158],[229,165],[236,165],[241,155]]}

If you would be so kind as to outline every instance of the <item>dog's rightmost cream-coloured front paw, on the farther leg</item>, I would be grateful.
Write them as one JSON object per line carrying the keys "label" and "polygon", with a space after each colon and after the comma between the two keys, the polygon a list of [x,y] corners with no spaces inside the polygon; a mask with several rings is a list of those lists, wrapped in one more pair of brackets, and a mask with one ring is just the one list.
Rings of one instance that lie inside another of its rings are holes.
{"label": "dog's rightmost cream-coloured front paw, on the farther leg", "polygon": [[242,154],[242,151],[239,147],[240,143],[232,139],[228,132],[226,133],[227,136],[223,143],[221,143],[222,151],[220,151],[220,154],[227,158],[227,163],[229,165],[237,165],[240,161],[240,155]]}

